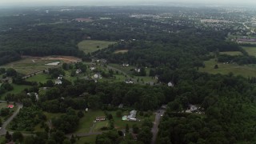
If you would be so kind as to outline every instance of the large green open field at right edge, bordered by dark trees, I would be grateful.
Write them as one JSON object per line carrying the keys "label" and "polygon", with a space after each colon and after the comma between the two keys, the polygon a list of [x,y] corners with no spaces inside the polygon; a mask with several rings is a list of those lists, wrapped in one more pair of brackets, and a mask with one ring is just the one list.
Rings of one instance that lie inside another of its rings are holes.
{"label": "large green open field at right edge, bordered by dark trees", "polygon": [[[206,67],[200,68],[199,71],[210,73],[210,74],[229,74],[232,72],[234,75],[242,75],[243,77],[255,77],[256,66],[247,65],[239,66],[237,64],[223,64],[210,59],[205,62]],[[218,65],[218,69],[214,69],[214,66]]]}

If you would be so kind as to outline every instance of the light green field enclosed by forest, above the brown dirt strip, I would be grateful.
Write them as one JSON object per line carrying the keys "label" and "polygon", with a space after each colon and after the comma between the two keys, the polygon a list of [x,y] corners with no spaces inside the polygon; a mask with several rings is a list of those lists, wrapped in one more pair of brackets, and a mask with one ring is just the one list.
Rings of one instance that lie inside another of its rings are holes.
{"label": "light green field enclosed by forest, above the brown dirt strip", "polygon": [[84,40],[78,43],[78,48],[79,50],[82,50],[87,54],[107,48],[107,46],[112,45],[114,43],[115,42]]}

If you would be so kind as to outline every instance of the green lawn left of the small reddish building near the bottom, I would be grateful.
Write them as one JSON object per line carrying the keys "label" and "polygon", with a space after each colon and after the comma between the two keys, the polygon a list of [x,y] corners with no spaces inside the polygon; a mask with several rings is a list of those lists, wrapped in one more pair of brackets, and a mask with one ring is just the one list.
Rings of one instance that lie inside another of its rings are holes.
{"label": "green lawn left of the small reddish building near the bottom", "polygon": [[84,117],[80,119],[78,130],[74,133],[88,133],[90,131],[90,127],[94,124],[95,118],[99,116],[105,116],[102,110],[88,110]]}

